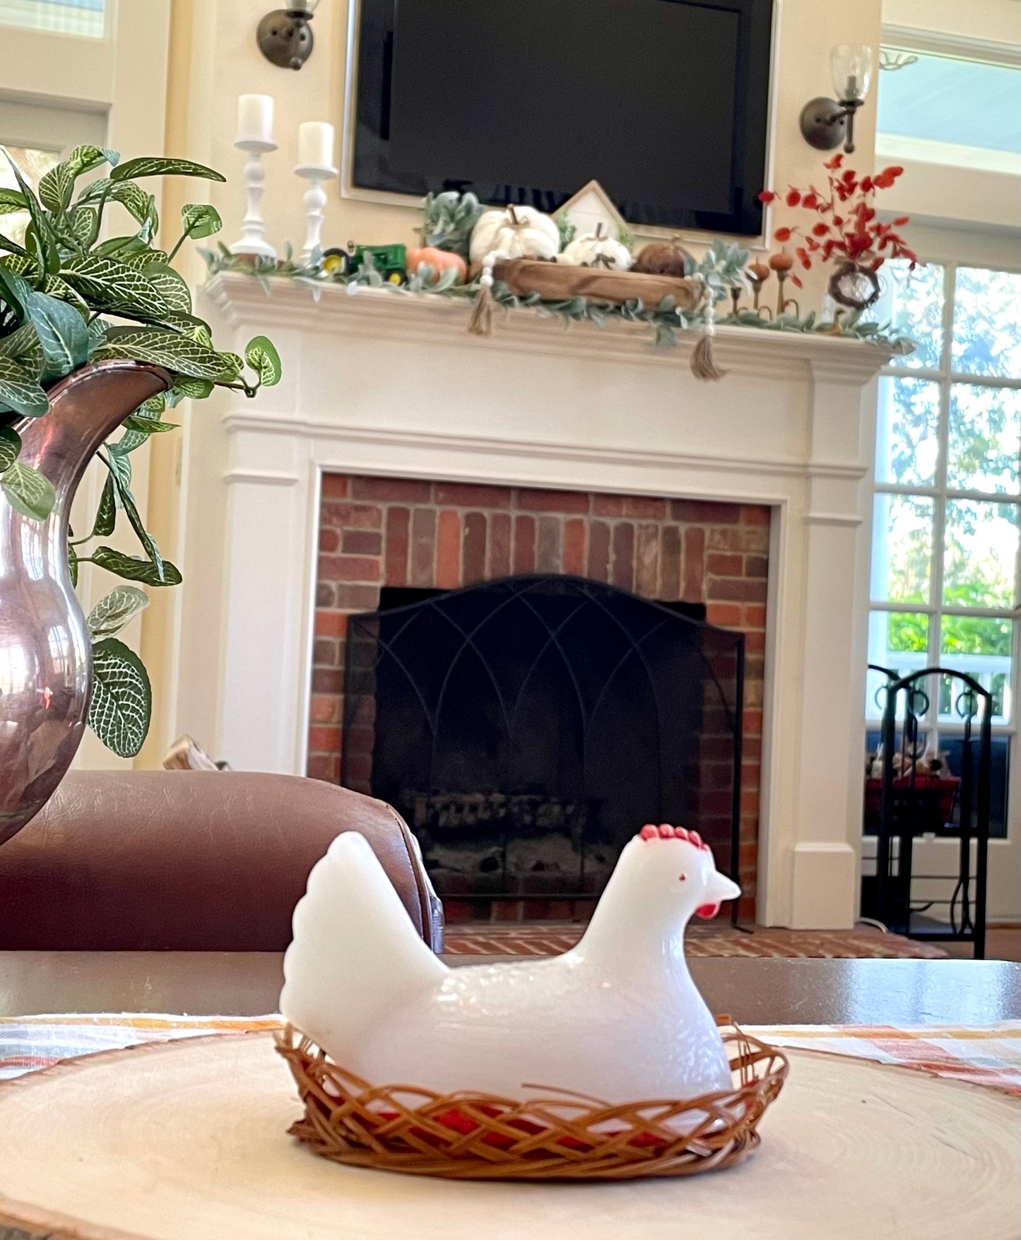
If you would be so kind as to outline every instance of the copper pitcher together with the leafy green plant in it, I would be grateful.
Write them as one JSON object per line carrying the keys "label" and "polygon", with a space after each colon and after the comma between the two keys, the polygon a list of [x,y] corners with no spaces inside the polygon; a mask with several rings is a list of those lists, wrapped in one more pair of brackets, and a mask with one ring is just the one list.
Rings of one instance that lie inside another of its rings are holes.
{"label": "copper pitcher together with the leafy green plant in it", "polygon": [[[222,181],[218,172],[182,159],[122,164],[98,146],[76,148],[37,192],[14,171],[17,188],[0,188],[0,843],[52,794],[86,720],[122,756],[145,739],[149,678],[115,634],[146,605],[140,585],[176,585],[181,574],[135,505],[133,453],[174,428],[164,414],[180,401],[215,387],[254,396],[280,377],[264,336],[243,358],[216,350],[171,265],[186,241],[220,229],[216,210],[185,206],[169,253],[154,241],[156,203],[141,182]],[[129,229],[100,241],[107,213],[119,210]],[[24,241],[5,236],[11,212],[27,212]],[[96,455],[108,475],[91,527],[76,537],[71,502]],[[107,544],[118,522],[140,554]],[[130,583],[88,618],[74,595],[84,562]]]}

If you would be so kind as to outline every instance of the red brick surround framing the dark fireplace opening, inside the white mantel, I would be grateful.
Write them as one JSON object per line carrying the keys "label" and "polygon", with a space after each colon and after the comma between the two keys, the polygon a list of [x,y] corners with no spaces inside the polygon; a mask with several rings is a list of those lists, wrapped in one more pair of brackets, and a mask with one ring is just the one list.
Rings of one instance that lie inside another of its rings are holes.
{"label": "red brick surround framing the dark fireplace opening, inside the white mantel", "polygon": [[[455,589],[517,573],[569,573],[659,601],[706,606],[746,635],[741,797],[742,911],[753,910],[759,820],[769,508],[635,495],[326,474],[319,529],[308,774],[367,779],[366,737],[342,737],[345,631],[383,585]],[[366,732],[367,729],[354,729]],[[448,901],[449,905],[449,901]],[[556,906],[553,906],[556,905]],[[494,916],[571,916],[569,908],[494,904]],[[448,906],[450,920],[460,910]]]}

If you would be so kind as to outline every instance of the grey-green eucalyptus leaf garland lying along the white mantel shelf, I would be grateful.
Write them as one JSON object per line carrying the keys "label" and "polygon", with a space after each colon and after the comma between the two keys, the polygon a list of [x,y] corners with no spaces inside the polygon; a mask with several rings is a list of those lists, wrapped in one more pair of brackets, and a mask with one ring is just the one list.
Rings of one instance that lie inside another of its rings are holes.
{"label": "grey-green eucalyptus leaf garland lying along the white mantel shelf", "polygon": [[[360,288],[373,288],[387,289],[396,296],[426,294],[463,301],[473,301],[479,291],[478,280],[470,284],[457,284],[457,273],[453,270],[442,272],[437,278],[428,264],[423,264],[418,272],[408,273],[406,284],[391,284],[373,268],[371,255],[366,255],[362,267],[351,274],[324,272],[321,259],[316,254],[313,254],[310,263],[296,262],[290,244],[284,247],[282,260],[236,255],[225,246],[221,246],[216,252],[201,250],[201,253],[211,277],[220,272],[241,272],[257,279],[267,295],[272,290],[274,279],[289,279],[304,284],[316,296],[328,285],[341,285],[351,294],[357,293]],[[732,288],[744,286],[743,272],[747,262],[747,249],[741,249],[738,246],[717,237],[697,264],[695,277],[705,283],[713,304],[720,304]],[[623,305],[610,305],[582,296],[553,301],[541,298],[538,294],[517,296],[500,280],[493,285],[491,294],[496,305],[506,311],[533,310],[541,317],[560,319],[564,325],[591,322],[597,327],[604,327],[612,319],[648,324],[654,343],[667,348],[677,345],[680,332],[701,331],[707,320],[706,299],[691,311],[680,310],[672,295],[665,296],[655,306],[645,305],[638,298],[625,301]],[[836,325],[820,322],[815,314],[808,314],[804,317],[784,314],[775,319],[762,319],[752,310],[720,316],[716,322],[717,325],[753,327],[762,331],[840,335],[883,345],[894,353],[909,353],[914,348],[914,341],[898,335],[892,324],[862,320],[860,311],[841,317]]]}

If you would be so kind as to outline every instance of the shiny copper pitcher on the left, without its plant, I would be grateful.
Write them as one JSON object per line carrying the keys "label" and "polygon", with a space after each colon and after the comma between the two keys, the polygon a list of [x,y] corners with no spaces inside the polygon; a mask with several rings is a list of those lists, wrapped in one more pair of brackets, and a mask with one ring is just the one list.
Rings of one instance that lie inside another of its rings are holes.
{"label": "shiny copper pitcher on the left, without its plant", "polygon": [[35,521],[0,494],[0,844],[63,779],[88,715],[92,642],[67,563],[71,501],[107,435],[169,384],[155,366],[98,362],[50,389],[45,417],[12,423],[19,459],[57,498]]}

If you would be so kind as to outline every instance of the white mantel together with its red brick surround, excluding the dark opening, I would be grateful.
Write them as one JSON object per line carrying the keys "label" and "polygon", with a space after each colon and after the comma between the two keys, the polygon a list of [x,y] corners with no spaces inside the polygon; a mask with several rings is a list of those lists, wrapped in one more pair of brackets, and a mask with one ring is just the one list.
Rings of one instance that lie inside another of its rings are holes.
{"label": "white mantel together with its red brick surround, excluding the dark opening", "polygon": [[695,334],[653,348],[645,324],[522,308],[480,339],[460,299],[267,298],[236,273],[201,312],[238,353],[268,332],[284,373],[190,425],[167,738],[334,782],[346,749],[368,777],[371,734],[342,737],[345,632],[383,587],[567,573],[702,604],[746,636],[741,885],[765,925],[854,924],[886,350],[725,325],[727,377],[701,383]]}

